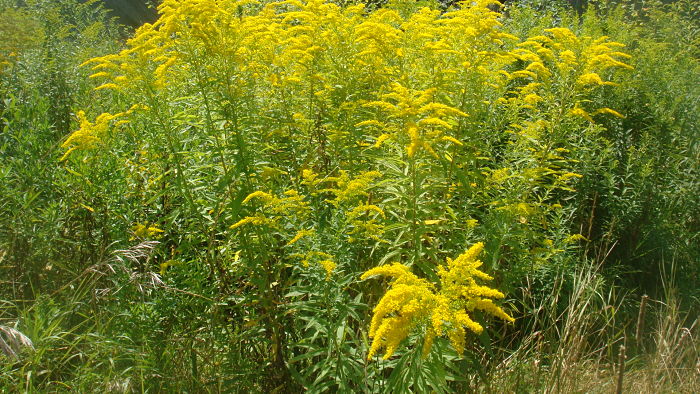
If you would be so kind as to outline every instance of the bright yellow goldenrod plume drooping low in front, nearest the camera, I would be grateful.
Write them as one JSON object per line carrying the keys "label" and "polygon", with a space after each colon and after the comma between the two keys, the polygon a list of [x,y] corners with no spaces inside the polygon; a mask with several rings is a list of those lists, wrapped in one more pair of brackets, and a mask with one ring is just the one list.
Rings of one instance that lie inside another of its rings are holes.
{"label": "bright yellow goldenrod plume drooping low in front, nearest the camera", "polygon": [[430,352],[435,337],[442,335],[447,335],[461,354],[466,330],[479,334],[484,329],[469,315],[475,310],[514,321],[493,302],[493,299],[503,298],[503,293],[476,281],[492,279],[478,269],[482,263],[477,256],[483,248],[483,243],[477,243],[456,259],[448,258],[447,266],[439,266],[438,289],[400,263],[375,267],[362,274],[362,279],[376,275],[392,278],[389,290],[374,308],[369,330],[373,340],[368,358],[383,348],[384,359],[388,359],[411,330],[419,326],[426,327],[424,356]]}

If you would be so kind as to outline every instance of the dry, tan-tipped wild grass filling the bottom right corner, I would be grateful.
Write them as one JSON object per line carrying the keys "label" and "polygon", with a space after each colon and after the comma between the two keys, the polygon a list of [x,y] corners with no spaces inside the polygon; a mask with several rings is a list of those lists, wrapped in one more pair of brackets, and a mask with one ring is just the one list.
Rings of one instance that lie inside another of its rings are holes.
{"label": "dry, tan-tipped wild grass filling the bottom right corner", "polygon": [[[494,365],[493,375],[481,389],[555,393],[697,391],[697,315],[679,310],[672,294],[675,289],[667,288],[671,293],[664,297],[667,302],[647,298],[640,321],[625,313],[630,309],[625,305],[630,295],[611,293],[600,279],[598,269],[591,266],[575,274],[574,291],[568,300],[560,299],[561,293],[555,292],[551,298],[532,305],[535,312],[555,309],[556,304],[567,305],[567,309],[558,315],[539,317],[546,322],[536,327],[548,328],[532,330],[522,338],[514,351]],[[635,331],[635,325],[642,328]]]}

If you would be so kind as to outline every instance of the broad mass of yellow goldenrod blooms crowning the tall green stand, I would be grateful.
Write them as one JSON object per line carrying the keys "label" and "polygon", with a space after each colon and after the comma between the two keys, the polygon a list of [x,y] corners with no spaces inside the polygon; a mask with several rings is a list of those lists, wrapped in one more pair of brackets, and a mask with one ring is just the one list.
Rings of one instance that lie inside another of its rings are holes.
{"label": "broad mass of yellow goldenrod blooms crowning the tall green stand", "polygon": [[[159,94],[178,88],[189,95],[194,80],[216,96],[255,94],[261,110],[288,111],[290,119],[313,125],[317,107],[301,109],[296,104],[304,101],[292,98],[309,97],[352,119],[328,130],[338,150],[347,150],[352,138],[362,147],[393,142],[408,157],[426,152],[434,158],[467,141],[458,126],[482,104],[474,99],[485,95],[478,89],[496,95],[486,103],[536,108],[550,99],[555,74],[585,91],[612,84],[606,70],[630,68],[622,44],[607,37],[554,28],[518,42],[502,31],[494,11],[499,5],[478,0],[404,16],[391,7],[368,12],[362,4],[324,0],[166,0],[160,18],[139,28],[126,49],[84,64],[101,81],[97,89],[141,102],[158,102]],[[359,90],[349,93],[350,87]],[[590,119],[579,101],[565,103],[568,114]],[[612,109],[593,114],[622,116]],[[289,136],[309,141],[312,128]],[[81,126],[74,140],[88,141],[96,134],[89,130]]]}

